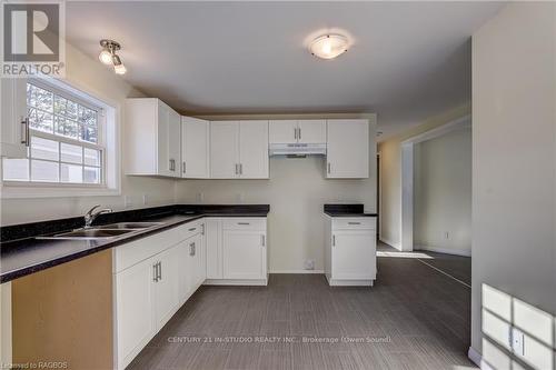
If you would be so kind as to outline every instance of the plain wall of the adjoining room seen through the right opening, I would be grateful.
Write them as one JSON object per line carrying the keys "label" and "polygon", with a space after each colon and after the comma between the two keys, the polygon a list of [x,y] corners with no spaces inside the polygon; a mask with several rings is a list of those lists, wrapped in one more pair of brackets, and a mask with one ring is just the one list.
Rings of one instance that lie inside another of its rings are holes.
{"label": "plain wall of the adjoining room seen through the right opening", "polygon": [[471,253],[471,130],[414,147],[414,248]]}

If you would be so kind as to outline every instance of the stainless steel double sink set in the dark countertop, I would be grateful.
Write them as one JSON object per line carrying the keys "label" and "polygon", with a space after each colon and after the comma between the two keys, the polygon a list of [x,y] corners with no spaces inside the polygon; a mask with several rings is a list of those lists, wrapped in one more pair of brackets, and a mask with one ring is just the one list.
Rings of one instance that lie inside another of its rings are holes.
{"label": "stainless steel double sink set in the dark countertop", "polygon": [[130,232],[143,231],[156,228],[163,222],[118,222],[111,224],[102,224],[92,228],[77,229],[48,237],[38,237],[37,239],[54,239],[54,240],[97,240],[117,238]]}

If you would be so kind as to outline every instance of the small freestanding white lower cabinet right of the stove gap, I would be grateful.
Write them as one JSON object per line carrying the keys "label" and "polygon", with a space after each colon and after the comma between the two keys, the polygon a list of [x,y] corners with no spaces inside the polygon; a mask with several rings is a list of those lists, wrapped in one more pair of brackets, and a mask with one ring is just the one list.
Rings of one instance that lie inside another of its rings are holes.
{"label": "small freestanding white lower cabinet right of the stove gap", "polygon": [[330,218],[325,274],[330,286],[373,286],[376,279],[375,218]]}

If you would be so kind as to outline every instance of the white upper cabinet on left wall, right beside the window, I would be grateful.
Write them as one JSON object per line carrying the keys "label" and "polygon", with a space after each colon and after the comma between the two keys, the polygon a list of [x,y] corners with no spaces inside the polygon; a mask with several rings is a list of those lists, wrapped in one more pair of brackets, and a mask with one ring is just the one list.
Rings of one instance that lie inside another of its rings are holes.
{"label": "white upper cabinet on left wall, right beside the window", "polygon": [[159,99],[127,99],[126,172],[180,177],[180,116]]}

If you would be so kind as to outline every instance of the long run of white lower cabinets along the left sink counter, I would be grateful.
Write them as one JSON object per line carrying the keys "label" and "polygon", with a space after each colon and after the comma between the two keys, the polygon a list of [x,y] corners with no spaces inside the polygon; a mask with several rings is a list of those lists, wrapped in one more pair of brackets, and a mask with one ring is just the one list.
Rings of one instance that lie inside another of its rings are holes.
{"label": "long run of white lower cabinets along the left sink counter", "polygon": [[202,229],[191,222],[113,249],[115,368],[125,369],[205,281]]}

